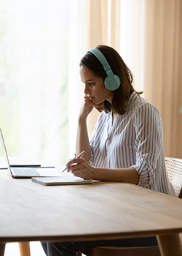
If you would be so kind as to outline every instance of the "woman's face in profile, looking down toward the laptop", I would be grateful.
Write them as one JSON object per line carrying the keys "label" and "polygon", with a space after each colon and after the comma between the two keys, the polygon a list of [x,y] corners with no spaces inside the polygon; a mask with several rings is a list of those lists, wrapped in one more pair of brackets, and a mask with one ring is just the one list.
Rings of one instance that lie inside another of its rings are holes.
{"label": "woman's face in profile, looking down toward the laptop", "polygon": [[86,67],[80,67],[80,78],[84,83],[84,94],[89,97],[95,104],[103,103],[104,100],[112,102],[114,91],[106,89],[103,83],[103,78],[95,77],[95,75]]}

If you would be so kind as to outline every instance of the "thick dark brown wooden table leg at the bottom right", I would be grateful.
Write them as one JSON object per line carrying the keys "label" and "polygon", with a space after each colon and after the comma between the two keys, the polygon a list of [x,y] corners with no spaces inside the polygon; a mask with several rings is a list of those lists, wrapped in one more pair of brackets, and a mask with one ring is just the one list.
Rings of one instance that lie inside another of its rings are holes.
{"label": "thick dark brown wooden table leg at the bottom right", "polygon": [[182,256],[181,240],[178,233],[157,235],[157,241],[162,256]]}

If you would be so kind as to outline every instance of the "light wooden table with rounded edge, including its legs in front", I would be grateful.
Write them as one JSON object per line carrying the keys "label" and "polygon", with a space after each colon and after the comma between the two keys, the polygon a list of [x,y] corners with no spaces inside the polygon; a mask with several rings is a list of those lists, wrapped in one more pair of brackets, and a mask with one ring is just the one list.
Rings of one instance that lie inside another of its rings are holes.
{"label": "light wooden table with rounded edge, including its legs in front", "polygon": [[182,255],[182,200],[117,182],[45,187],[0,170],[0,256],[16,241],[157,236],[162,255]]}

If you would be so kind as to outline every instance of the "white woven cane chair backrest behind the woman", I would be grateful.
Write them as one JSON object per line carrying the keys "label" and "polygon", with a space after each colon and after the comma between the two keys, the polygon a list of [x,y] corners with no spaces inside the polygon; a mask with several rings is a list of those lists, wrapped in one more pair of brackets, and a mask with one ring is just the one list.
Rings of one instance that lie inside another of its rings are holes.
{"label": "white woven cane chair backrest behind the woman", "polygon": [[176,197],[182,194],[182,159],[165,157],[165,165],[170,182],[175,189]]}

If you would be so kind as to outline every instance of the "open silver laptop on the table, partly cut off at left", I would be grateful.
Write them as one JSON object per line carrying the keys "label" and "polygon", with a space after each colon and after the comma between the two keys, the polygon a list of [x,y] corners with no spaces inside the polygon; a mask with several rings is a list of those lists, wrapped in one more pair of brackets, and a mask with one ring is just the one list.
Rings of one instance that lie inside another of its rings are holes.
{"label": "open silver laptop on the table, partly cut off at left", "polygon": [[[31,178],[31,177],[55,177],[62,176],[55,167],[33,167],[33,165],[23,165],[23,167],[12,167],[9,165],[9,157],[7,155],[7,148],[4,143],[4,138],[0,128],[1,144],[4,151],[4,157],[6,160],[7,169],[9,170],[12,178]],[[36,165],[38,166],[38,165]]]}

